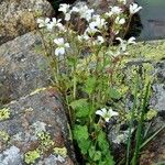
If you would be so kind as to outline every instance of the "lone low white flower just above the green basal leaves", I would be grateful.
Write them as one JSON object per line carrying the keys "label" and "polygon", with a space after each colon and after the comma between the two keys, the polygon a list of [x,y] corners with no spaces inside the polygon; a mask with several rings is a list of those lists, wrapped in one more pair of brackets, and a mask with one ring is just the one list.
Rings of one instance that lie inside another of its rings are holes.
{"label": "lone low white flower just above the green basal leaves", "polygon": [[109,110],[107,110],[106,108],[102,108],[101,110],[97,110],[96,114],[102,117],[106,120],[106,122],[108,122],[112,117],[119,116],[119,113],[113,111],[111,108]]}

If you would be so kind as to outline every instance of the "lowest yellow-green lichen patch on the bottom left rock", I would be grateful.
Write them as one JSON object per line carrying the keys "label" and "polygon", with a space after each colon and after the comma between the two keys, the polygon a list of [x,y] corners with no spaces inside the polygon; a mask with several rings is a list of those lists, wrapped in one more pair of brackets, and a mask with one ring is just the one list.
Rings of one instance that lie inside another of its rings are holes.
{"label": "lowest yellow-green lichen patch on the bottom left rock", "polygon": [[34,164],[37,158],[40,158],[40,151],[37,148],[34,151],[29,151],[24,155],[24,162],[26,164]]}

